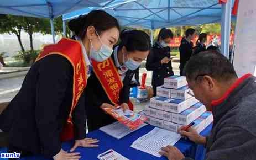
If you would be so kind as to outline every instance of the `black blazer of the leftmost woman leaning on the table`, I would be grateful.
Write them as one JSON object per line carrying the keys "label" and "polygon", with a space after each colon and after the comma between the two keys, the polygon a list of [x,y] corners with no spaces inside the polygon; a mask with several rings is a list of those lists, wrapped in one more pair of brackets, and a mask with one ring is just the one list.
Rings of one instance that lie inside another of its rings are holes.
{"label": "black blazer of the leftmost woman leaning on the table", "polygon": [[[32,154],[53,157],[61,150],[60,133],[72,103],[73,70],[59,55],[35,62],[22,88],[0,115],[0,129],[9,132],[9,145]],[[72,113],[75,138],[85,138],[85,98]]]}

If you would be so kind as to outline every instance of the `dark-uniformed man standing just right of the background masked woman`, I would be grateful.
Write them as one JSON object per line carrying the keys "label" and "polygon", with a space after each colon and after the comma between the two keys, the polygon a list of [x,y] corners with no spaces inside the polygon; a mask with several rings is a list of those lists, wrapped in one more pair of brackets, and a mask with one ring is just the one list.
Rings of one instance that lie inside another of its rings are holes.
{"label": "dark-uniformed man standing just right of the background masked woman", "polygon": [[181,39],[180,42],[180,76],[183,75],[183,69],[189,61],[192,53],[193,53],[193,42],[192,40],[195,38],[195,29],[189,28],[186,30],[186,36]]}

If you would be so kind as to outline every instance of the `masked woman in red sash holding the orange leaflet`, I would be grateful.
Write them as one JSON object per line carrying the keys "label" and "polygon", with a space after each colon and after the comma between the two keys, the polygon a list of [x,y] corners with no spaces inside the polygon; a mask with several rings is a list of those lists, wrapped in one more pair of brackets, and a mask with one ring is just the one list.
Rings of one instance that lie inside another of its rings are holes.
{"label": "masked woman in red sash holding the orange leaflet", "polygon": [[133,110],[129,103],[130,81],[149,54],[150,38],[144,31],[124,30],[120,40],[111,58],[105,62],[92,62],[93,72],[86,87],[89,132],[116,121],[102,108],[120,105],[123,110]]}

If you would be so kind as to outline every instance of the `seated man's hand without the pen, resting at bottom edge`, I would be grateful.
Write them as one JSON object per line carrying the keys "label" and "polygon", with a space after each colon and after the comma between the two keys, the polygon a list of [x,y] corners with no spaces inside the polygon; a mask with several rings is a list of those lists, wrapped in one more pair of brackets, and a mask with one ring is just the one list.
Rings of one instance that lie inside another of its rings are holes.
{"label": "seated man's hand without the pen, resting at bottom edge", "polygon": [[181,160],[185,158],[183,154],[174,146],[167,146],[161,148],[163,151],[160,151],[159,154],[167,157],[169,160]]}

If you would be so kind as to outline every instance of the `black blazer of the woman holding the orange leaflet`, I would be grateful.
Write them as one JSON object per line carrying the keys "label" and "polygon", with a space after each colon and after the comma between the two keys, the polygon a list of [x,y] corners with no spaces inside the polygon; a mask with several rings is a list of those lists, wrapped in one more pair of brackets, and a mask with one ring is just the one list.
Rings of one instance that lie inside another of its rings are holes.
{"label": "black blazer of the woman holding the orange leaflet", "polygon": [[[113,62],[114,54],[111,55]],[[130,82],[132,81],[133,75],[135,71],[128,70],[126,72],[126,76],[123,79],[123,88],[119,95],[119,102],[120,103],[128,103],[129,96],[130,96]],[[96,89],[97,88],[97,89]],[[101,86],[100,81],[96,77],[94,72],[91,72],[90,78],[88,78],[87,86],[86,86],[86,97],[88,98],[88,105],[90,107],[100,107],[102,103],[109,103],[112,104],[111,101],[108,99],[107,94],[103,87]],[[113,105],[113,104],[112,104]]]}

